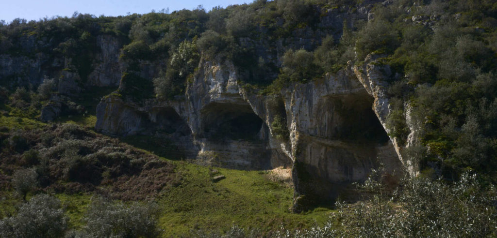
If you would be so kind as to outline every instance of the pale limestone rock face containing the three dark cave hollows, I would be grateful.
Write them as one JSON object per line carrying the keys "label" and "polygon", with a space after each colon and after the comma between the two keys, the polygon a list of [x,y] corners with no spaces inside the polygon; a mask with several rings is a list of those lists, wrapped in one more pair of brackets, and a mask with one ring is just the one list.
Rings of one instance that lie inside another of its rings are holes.
{"label": "pale limestone rock face containing the three dark cave hollows", "polygon": [[385,130],[388,98],[379,89],[380,75],[373,73],[379,70],[373,69],[363,74],[348,66],[264,96],[239,84],[230,61],[201,60],[185,98],[138,105],[109,95],[97,107],[96,129],[162,136],[183,151],[183,158],[204,165],[291,166],[298,211],[346,196],[350,183],[380,165],[394,177],[403,172],[400,147]]}

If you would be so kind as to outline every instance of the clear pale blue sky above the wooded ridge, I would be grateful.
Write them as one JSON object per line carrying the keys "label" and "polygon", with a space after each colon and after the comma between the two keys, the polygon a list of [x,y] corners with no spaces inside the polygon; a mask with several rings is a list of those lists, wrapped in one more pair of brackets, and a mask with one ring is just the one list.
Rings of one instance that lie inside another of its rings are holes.
{"label": "clear pale blue sky above the wooded ridge", "polygon": [[71,16],[75,11],[90,13],[95,16],[118,16],[131,13],[148,13],[153,9],[160,11],[169,7],[169,11],[183,8],[194,9],[198,5],[209,11],[214,6],[226,7],[243,4],[252,0],[0,0],[0,20],[10,22],[19,17],[39,20],[43,17]]}

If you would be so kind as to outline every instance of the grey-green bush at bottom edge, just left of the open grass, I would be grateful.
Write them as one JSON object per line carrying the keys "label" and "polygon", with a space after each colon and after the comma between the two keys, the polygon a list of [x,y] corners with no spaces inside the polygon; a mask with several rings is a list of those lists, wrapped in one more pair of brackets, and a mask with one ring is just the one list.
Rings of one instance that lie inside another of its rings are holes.
{"label": "grey-green bush at bottom edge, just left of the open grass", "polygon": [[159,237],[158,207],[149,203],[111,203],[93,198],[84,221],[84,233],[90,237]]}

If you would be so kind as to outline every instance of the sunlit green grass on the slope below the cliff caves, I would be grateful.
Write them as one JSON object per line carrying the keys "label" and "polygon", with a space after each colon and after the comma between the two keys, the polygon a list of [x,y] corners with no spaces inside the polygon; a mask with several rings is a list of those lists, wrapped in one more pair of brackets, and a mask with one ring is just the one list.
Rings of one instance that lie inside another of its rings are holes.
{"label": "sunlit green grass on the slope below the cliff caves", "polygon": [[[84,121],[74,122],[88,126]],[[0,117],[0,127],[33,128],[43,125],[46,124],[33,119]],[[288,229],[303,228],[313,225],[315,221],[323,223],[332,212],[317,208],[306,214],[290,213],[288,208],[292,203],[293,189],[270,180],[265,171],[207,168],[183,161],[172,162],[184,179],[181,185],[167,188],[156,199],[162,209],[159,226],[164,230],[164,237],[186,235],[191,229],[227,231],[233,225],[258,228],[262,232],[271,232],[281,225]],[[212,181],[212,169],[218,170],[226,179]],[[0,195],[0,217],[15,213],[15,207],[21,203],[20,198],[13,191],[3,191]],[[91,194],[55,195],[70,217],[69,227],[82,227]]]}

